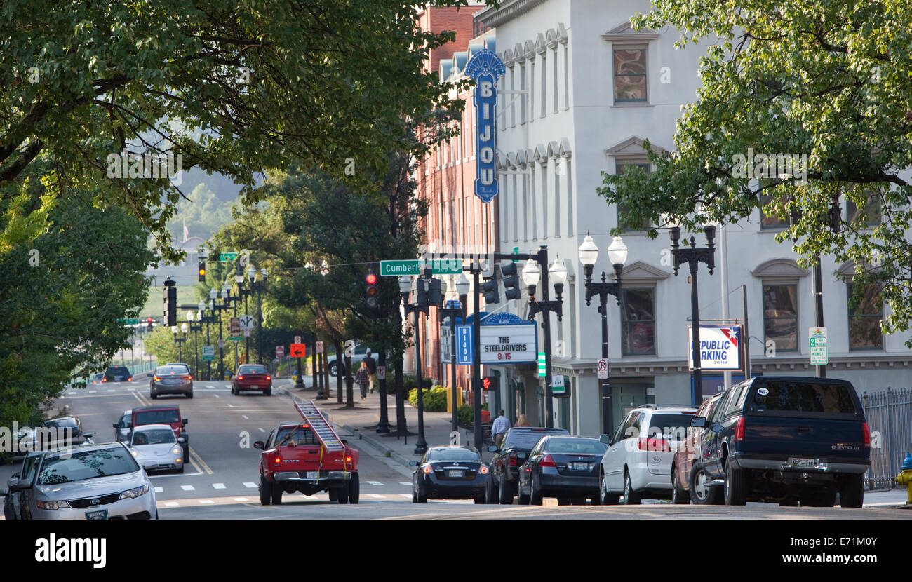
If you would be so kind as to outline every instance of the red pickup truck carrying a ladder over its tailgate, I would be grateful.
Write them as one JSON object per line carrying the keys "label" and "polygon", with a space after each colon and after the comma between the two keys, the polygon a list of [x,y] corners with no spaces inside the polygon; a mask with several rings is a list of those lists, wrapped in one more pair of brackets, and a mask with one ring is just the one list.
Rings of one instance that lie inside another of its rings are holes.
{"label": "red pickup truck carrying a ladder over its tailgate", "polygon": [[309,404],[295,404],[303,421],[280,422],[265,442],[254,442],[260,455],[260,504],[281,504],[283,493],[313,495],[326,491],[330,501],[358,503],[358,451],[338,438]]}

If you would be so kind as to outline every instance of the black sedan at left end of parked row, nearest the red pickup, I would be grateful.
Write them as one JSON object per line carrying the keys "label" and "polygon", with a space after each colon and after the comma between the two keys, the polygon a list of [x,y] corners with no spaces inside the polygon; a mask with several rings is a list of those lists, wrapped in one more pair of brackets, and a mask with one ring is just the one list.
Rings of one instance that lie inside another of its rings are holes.
{"label": "black sedan at left end of parked row, nearest the red pickup", "polygon": [[428,499],[474,499],[484,503],[488,466],[474,447],[433,447],[411,476],[411,503],[426,504]]}

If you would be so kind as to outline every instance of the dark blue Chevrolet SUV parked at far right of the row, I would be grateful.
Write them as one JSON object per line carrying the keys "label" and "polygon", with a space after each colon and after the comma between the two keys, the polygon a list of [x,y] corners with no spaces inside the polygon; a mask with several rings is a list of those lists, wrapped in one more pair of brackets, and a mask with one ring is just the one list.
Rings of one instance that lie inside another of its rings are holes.
{"label": "dark blue Chevrolet SUV parked at far right of the row", "polygon": [[761,376],[732,386],[706,427],[700,459],[707,484],[723,488],[725,504],[861,507],[871,462],[871,437],[850,382]]}

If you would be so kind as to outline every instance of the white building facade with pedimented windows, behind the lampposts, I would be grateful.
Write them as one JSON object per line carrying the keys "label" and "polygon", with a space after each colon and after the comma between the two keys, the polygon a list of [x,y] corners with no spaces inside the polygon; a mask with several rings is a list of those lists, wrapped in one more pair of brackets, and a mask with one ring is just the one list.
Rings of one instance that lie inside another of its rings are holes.
{"label": "white building facade with pedimented windows, behind the lampposts", "polygon": [[[674,47],[677,31],[630,28],[630,16],[648,10],[645,0],[506,0],[474,16],[476,25],[496,28],[497,52],[506,66],[498,105],[498,251],[534,252],[547,245],[549,258],[559,255],[569,271],[563,320],[550,317],[554,375],[564,376],[570,389],[569,398],[554,400],[554,426],[574,434],[598,435],[603,429],[596,379],[598,299],[586,306],[577,255],[591,234],[600,251],[593,279],[600,280],[605,271],[613,280],[606,248],[609,232],[618,224],[617,207],[596,192],[603,185],[601,174],[624,171],[629,164],[648,167],[643,140],[673,150],[681,105],[696,99],[700,82],[700,46],[679,50]],[[845,208],[845,201],[842,206],[843,213],[855,212]],[[704,325],[720,323],[724,272],[731,319],[742,319],[740,287],[747,290],[751,374],[813,376],[808,355],[813,277],[797,265],[791,245],[775,241],[781,230],[775,217],[754,211],[717,235],[716,271],[710,275],[700,265],[700,318]],[[702,233],[693,235],[698,245],[705,245]],[[609,297],[607,310],[613,427],[640,404],[687,404],[691,399],[687,266],[673,275],[664,230],[658,239],[649,239],[633,226],[623,239],[629,255],[621,306]],[[724,266],[721,244],[727,244]],[[876,309],[876,292],[850,317],[849,288],[837,272],[850,275],[853,268],[824,256],[827,376],[850,380],[859,392],[912,386],[912,354],[904,345],[909,335],[880,335],[877,322],[886,307]],[[504,310],[525,317],[527,309],[521,299]],[[544,350],[541,335],[539,341]],[[544,378],[537,369],[492,369],[501,377],[499,393],[490,395],[495,406],[513,415],[523,412],[533,425],[544,425]],[[698,394],[720,390],[721,372],[704,371],[703,377]],[[734,374],[735,380],[742,377],[743,372]]]}

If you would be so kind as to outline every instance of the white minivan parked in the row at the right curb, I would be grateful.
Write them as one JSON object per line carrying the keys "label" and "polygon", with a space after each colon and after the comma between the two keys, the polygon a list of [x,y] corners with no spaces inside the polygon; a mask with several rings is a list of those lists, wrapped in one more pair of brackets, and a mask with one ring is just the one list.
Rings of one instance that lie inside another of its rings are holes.
{"label": "white minivan parked in the row at the right curb", "polygon": [[644,497],[670,499],[671,462],[697,409],[645,404],[627,412],[608,445],[599,479],[602,504],[639,504]]}

